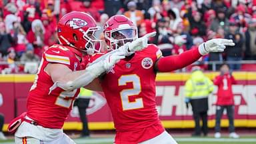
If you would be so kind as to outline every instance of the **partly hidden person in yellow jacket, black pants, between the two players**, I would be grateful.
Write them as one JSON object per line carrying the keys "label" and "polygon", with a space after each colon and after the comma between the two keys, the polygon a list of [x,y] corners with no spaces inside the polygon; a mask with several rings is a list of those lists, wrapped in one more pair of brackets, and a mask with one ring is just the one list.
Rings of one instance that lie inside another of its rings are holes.
{"label": "partly hidden person in yellow jacket, black pants, between the two players", "polygon": [[89,106],[89,101],[92,95],[93,95],[93,91],[90,91],[88,89],[81,87],[79,96],[77,99],[75,99],[74,106],[78,107],[79,116],[80,116],[81,122],[83,123],[81,137],[90,137],[90,131],[88,129],[88,121],[86,116],[86,109]]}

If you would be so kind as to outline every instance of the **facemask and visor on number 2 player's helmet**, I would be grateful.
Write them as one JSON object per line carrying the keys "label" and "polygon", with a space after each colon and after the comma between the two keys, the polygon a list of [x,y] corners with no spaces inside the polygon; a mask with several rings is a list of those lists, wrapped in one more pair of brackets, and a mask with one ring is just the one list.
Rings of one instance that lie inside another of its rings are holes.
{"label": "facemask and visor on number 2 player's helmet", "polygon": [[112,51],[118,49],[119,47],[125,45],[125,43],[135,41],[138,38],[137,27],[123,27],[119,29],[114,29],[111,31],[106,31],[106,39],[109,40],[108,49]]}

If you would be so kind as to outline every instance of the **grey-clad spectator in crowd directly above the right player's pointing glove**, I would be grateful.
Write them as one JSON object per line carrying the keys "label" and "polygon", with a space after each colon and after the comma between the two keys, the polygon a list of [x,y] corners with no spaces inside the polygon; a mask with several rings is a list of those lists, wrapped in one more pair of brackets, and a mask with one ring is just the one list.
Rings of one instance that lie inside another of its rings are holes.
{"label": "grey-clad spectator in crowd directly above the right player's pointing glove", "polygon": [[217,17],[213,20],[210,25],[210,29],[214,32],[217,32],[219,27],[223,28],[225,33],[229,31],[229,20],[226,17],[225,9],[217,9]]}

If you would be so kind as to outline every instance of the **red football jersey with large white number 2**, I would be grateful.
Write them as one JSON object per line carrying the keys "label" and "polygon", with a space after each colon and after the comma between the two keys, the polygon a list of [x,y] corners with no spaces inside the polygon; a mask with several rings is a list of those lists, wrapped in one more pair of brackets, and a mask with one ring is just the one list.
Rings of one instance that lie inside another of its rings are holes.
{"label": "red football jersey with large white number 2", "polygon": [[115,143],[138,143],[164,131],[155,102],[154,65],[159,57],[161,51],[149,45],[103,76],[101,85],[117,130]]}

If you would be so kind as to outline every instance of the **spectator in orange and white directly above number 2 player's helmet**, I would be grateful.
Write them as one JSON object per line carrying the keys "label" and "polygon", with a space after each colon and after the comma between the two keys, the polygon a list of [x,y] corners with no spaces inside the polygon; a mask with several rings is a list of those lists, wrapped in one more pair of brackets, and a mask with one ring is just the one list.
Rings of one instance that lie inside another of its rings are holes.
{"label": "spectator in orange and white directly above number 2 player's helmet", "polygon": [[133,23],[135,23],[135,25],[139,27],[139,25],[141,25],[141,22],[144,19],[142,11],[136,9],[137,6],[134,1],[129,1],[129,3],[127,3],[127,7],[129,11],[126,11],[123,15],[129,17],[129,19],[131,19],[131,21],[133,21]]}

